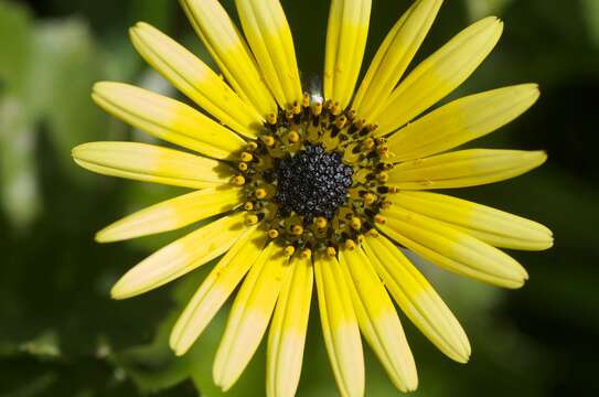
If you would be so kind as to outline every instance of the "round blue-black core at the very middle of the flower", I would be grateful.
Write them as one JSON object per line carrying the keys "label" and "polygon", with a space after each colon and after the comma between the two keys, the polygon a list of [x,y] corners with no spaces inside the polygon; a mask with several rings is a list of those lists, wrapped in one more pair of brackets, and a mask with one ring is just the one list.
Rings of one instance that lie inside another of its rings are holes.
{"label": "round blue-black core at the very middle of the flower", "polygon": [[320,146],[308,144],[296,155],[280,159],[275,200],[281,215],[296,212],[307,223],[317,216],[333,218],[347,200],[352,175],[352,167]]}

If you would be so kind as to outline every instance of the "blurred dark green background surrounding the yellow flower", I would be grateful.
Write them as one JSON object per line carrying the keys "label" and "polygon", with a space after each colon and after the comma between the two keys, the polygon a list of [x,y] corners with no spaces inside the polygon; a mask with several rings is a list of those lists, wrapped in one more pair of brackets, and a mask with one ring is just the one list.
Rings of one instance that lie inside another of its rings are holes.
{"label": "blurred dark green background surrounding the yellow flower", "polygon": [[[282,1],[306,78],[323,63],[328,1]],[[232,1],[224,1],[233,10]],[[366,60],[409,0],[374,1]],[[542,97],[479,147],[545,149],[527,175],[458,195],[548,225],[555,247],[515,253],[530,270],[506,291],[418,261],[470,335],[471,362],[454,364],[403,318],[420,376],[415,396],[599,395],[598,0],[448,0],[418,58],[488,14],[505,21],[488,61],[450,98],[537,82]],[[210,63],[174,0],[0,0],[0,396],[220,396],[211,382],[224,310],[191,353],[174,360],[167,335],[205,276],[116,302],[109,288],[178,233],[116,245],[94,232],[180,193],[93,175],[71,148],[92,140],[151,141],[98,110],[92,84],[116,79],[178,94],[132,50],[138,20]],[[364,67],[363,67],[364,69]],[[312,304],[315,308],[315,304]],[[264,394],[264,347],[227,396]],[[366,351],[367,395],[395,395]],[[312,310],[300,396],[335,395]]]}

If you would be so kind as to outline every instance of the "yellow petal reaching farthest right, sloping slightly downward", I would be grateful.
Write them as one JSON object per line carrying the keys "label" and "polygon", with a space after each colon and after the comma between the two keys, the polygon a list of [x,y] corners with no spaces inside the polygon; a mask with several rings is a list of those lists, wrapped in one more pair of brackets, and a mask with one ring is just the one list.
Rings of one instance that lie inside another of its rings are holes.
{"label": "yellow petal reaching farthest right, sloping slightly downward", "polygon": [[489,206],[429,192],[404,191],[387,198],[495,247],[541,250],[553,246],[553,234],[547,227]]}

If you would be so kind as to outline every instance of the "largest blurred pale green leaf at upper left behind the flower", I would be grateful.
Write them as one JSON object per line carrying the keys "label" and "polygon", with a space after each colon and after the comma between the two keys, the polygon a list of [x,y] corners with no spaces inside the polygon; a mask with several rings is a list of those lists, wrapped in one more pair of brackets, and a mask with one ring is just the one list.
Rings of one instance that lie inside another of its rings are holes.
{"label": "largest blurred pale green leaf at upper left behind the flower", "polygon": [[[45,22],[36,29],[32,101],[43,108],[50,138],[65,170],[74,170],[71,149],[108,138],[108,118],[92,101],[104,63],[86,24],[77,19]],[[38,98],[38,99],[35,99]],[[82,173],[73,173],[79,178]]]}

